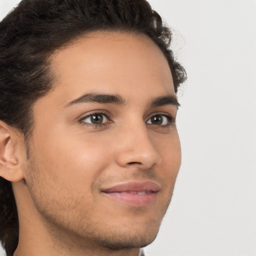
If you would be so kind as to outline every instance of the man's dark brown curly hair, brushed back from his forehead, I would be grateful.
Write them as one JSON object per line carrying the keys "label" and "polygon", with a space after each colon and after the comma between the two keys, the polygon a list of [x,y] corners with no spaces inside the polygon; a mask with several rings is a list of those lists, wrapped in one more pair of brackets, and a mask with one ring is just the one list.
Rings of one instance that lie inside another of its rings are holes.
{"label": "man's dark brown curly hair, brushed back from his forehead", "polygon": [[[96,30],[147,35],[168,61],[175,92],[186,79],[169,48],[170,29],[146,0],[21,0],[0,22],[0,120],[29,139],[33,103],[54,81],[51,54]],[[12,255],[18,243],[18,215],[11,183],[2,177],[0,241],[7,256]]]}

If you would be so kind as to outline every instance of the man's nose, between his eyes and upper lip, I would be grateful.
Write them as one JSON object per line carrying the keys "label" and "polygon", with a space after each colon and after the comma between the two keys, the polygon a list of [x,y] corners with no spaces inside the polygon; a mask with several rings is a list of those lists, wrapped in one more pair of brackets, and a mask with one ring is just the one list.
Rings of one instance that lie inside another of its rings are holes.
{"label": "man's nose, between his eyes and upper lip", "polygon": [[118,136],[116,162],[122,167],[150,168],[161,162],[161,157],[148,136],[144,123],[126,127]]}

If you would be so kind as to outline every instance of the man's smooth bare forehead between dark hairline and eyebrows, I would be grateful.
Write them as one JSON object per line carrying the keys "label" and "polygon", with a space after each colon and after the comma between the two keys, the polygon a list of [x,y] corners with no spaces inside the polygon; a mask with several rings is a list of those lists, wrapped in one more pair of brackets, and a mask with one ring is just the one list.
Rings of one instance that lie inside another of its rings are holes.
{"label": "man's smooth bare forehead between dark hairline and eyebrows", "polygon": [[[93,32],[58,49],[51,57],[53,89],[39,98],[34,114],[57,112],[84,93],[119,94],[143,108],[152,98],[175,96],[168,62],[146,35]],[[142,109],[141,108],[141,109]]]}

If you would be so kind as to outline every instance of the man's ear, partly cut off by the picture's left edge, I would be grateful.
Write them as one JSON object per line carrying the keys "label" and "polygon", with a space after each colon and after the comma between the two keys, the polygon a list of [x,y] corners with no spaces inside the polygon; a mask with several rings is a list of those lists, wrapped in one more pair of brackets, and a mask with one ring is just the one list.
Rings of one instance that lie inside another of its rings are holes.
{"label": "man's ear, partly cut off by the picture's left edge", "polygon": [[0,176],[9,181],[23,179],[18,155],[16,155],[16,133],[0,120]]}

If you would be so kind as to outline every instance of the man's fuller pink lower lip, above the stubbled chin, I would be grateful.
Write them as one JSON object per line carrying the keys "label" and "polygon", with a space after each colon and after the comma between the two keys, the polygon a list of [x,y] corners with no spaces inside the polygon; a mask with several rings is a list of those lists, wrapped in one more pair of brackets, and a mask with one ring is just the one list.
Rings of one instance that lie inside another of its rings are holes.
{"label": "man's fuller pink lower lip, above the stubbled chin", "polygon": [[153,203],[156,198],[157,192],[150,192],[146,194],[131,194],[120,192],[103,192],[108,197],[117,200],[119,202],[132,205],[132,206],[145,206]]}

